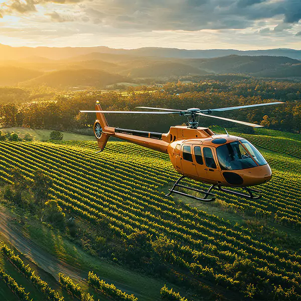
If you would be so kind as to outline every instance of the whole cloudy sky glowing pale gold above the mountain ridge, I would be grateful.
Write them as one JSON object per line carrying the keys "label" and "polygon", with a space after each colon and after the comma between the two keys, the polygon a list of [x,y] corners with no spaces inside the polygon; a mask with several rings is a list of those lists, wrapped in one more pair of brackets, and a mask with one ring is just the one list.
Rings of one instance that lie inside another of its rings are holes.
{"label": "whole cloudy sky glowing pale gold above the mountain ridge", "polygon": [[301,49],[301,0],[0,0],[0,44]]}

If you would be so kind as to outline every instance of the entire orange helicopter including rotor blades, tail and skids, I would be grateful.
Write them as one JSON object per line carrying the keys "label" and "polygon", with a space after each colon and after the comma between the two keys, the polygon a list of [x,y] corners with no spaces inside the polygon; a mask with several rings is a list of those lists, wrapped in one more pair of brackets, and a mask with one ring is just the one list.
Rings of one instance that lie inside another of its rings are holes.
{"label": "entire orange helicopter including rotor blades, tail and skids", "polygon": [[[181,177],[169,189],[167,197],[172,194],[179,194],[203,202],[212,202],[216,196],[212,191],[218,190],[241,198],[258,200],[261,192],[253,186],[264,184],[272,177],[271,169],[249,141],[242,137],[227,134],[215,134],[208,127],[199,126],[200,116],[217,118],[244,124],[251,127],[262,127],[262,125],[229,119],[211,115],[213,112],[244,109],[265,105],[275,105],[284,102],[269,102],[243,106],[225,107],[217,109],[189,108],[187,110],[157,108],[157,107],[136,107],[147,109],[147,111],[104,111],[99,101],[96,101],[95,111],[81,110],[82,113],[96,113],[94,123],[94,134],[102,152],[109,137],[116,137],[147,148],[158,150],[168,154],[175,170]],[[179,114],[187,116],[189,125],[171,126],[168,133],[141,131],[110,127],[104,113],[119,114]],[[207,191],[182,185],[185,178],[195,180],[211,186]],[[177,188],[184,188],[189,191],[185,193]],[[229,188],[240,188],[241,191]],[[192,195],[197,192],[203,197]]]}

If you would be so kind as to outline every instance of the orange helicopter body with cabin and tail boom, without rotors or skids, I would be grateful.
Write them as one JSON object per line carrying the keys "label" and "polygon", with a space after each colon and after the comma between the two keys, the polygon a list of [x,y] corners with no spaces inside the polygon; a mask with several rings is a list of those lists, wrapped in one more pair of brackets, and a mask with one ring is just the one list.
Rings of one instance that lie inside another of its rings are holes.
{"label": "orange helicopter body with cabin and tail boom, without rotors or skids", "polygon": [[[157,133],[105,126],[102,134],[168,154],[177,172],[199,182],[250,187],[271,179],[269,165],[250,142],[215,135],[206,127],[172,126],[168,133]],[[100,148],[105,146],[102,140],[98,139]]]}

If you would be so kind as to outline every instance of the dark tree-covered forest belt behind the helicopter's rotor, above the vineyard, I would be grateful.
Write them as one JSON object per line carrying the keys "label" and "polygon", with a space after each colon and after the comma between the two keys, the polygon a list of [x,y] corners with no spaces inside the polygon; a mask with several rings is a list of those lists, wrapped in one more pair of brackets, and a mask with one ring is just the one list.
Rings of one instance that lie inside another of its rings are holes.
{"label": "dark tree-covered forest belt behind the helicopter's rotor, above the vineyard", "polygon": [[[96,100],[103,109],[133,110],[136,106],[154,106],[172,109],[201,109],[283,101],[285,104],[252,110],[236,110],[221,116],[245,120],[267,128],[290,132],[301,129],[301,83],[264,81],[240,76],[217,76],[198,82],[169,82],[162,88],[128,87],[126,93],[86,90],[57,91],[49,87],[26,89],[0,88],[0,112],[3,127],[24,126],[56,130],[84,130],[93,125],[93,114],[79,110],[93,110]],[[141,130],[167,131],[171,125],[187,120],[180,116],[148,116],[108,114],[110,125]],[[219,121],[214,123],[221,125]],[[200,125],[212,120],[204,117]],[[224,123],[227,126],[227,123]],[[230,124],[229,124],[230,126]],[[233,126],[231,124],[231,126]],[[239,126],[241,131],[249,130]]]}

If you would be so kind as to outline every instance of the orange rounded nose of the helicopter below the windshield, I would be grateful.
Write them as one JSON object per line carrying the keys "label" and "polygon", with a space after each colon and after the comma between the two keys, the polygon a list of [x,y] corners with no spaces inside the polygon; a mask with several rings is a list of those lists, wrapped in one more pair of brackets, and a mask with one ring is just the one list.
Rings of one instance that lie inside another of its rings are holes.
{"label": "orange rounded nose of the helicopter below the windshield", "polygon": [[272,171],[268,164],[242,170],[243,186],[255,186],[268,182],[272,178]]}

